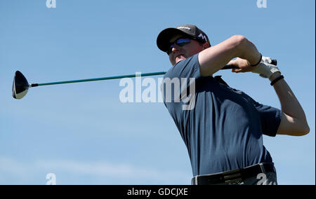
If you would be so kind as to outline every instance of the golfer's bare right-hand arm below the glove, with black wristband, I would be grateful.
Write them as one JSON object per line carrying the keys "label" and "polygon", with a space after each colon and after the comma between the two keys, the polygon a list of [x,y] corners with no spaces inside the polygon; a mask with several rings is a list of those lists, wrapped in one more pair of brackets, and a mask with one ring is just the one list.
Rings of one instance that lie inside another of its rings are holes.
{"label": "golfer's bare right-hand arm below the glove, with black wristband", "polygon": [[[272,74],[270,81],[273,81],[280,75],[281,74],[279,72]],[[310,128],[306,121],[303,108],[296,99],[287,82],[284,81],[284,79],[281,79],[277,81],[273,87],[275,88],[275,92],[277,92],[282,109],[282,118],[277,134],[295,136],[308,134],[308,132],[310,132]]]}

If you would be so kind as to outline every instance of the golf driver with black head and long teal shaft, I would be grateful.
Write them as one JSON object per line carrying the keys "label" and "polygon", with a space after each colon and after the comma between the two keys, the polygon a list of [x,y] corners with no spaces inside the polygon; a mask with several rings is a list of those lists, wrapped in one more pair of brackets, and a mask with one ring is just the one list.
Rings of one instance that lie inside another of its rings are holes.
{"label": "golf driver with black head and long teal shaft", "polygon": [[[277,65],[277,60],[272,60],[270,64]],[[235,69],[232,65],[226,65],[223,69]],[[147,74],[140,74],[140,76],[157,76],[166,74],[166,71],[161,72],[154,72],[154,73],[147,73]],[[116,79],[116,78],[133,78],[136,77],[136,74],[132,75],[123,75],[123,76],[108,76],[102,78],[88,78],[88,79],[79,79],[79,80],[72,80],[72,81],[58,81],[58,82],[51,82],[51,83],[32,83],[29,84],[27,78],[20,72],[15,71],[15,76],[13,78],[13,85],[12,85],[12,96],[15,99],[22,99],[25,95],[27,95],[27,91],[29,88],[37,87],[41,85],[55,85],[55,84],[64,84],[64,83],[79,83],[85,81],[101,81],[101,80],[109,80],[109,79]]]}

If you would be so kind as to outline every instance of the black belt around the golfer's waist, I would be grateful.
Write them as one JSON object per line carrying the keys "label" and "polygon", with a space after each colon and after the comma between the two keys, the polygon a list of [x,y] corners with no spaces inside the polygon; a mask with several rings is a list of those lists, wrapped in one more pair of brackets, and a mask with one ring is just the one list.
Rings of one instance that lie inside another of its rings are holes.
{"label": "black belt around the golfer's waist", "polygon": [[[261,167],[262,166],[262,167]],[[261,163],[258,165],[252,165],[242,169],[231,170],[228,172],[220,172],[218,174],[200,175],[193,177],[191,180],[192,185],[202,184],[230,184],[236,181],[242,181],[249,177],[256,177],[260,173],[275,172],[273,163]]]}

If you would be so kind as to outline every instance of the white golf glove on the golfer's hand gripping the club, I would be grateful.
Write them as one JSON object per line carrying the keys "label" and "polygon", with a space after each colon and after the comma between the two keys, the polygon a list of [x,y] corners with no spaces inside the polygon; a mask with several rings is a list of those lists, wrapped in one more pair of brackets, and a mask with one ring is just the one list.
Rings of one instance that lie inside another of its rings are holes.
{"label": "white golf glove on the golfer's hand gripping the club", "polygon": [[279,72],[279,68],[273,64],[271,64],[272,60],[270,57],[263,57],[261,62],[256,66],[256,68],[252,71],[255,74],[260,74],[263,78],[270,78],[272,74]]}

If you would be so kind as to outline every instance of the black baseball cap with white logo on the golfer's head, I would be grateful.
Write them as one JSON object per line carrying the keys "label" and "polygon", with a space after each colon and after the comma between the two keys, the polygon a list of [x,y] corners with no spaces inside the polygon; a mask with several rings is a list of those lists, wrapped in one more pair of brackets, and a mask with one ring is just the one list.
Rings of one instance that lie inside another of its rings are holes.
{"label": "black baseball cap with white logo on the golfer's head", "polygon": [[[176,28],[169,27],[164,29],[157,36],[157,46],[160,50],[166,52],[169,49],[169,41],[176,34],[183,34],[184,36],[189,36],[201,43],[209,43],[209,37],[197,26],[195,25],[180,25]],[[209,43],[211,46],[211,43]]]}

